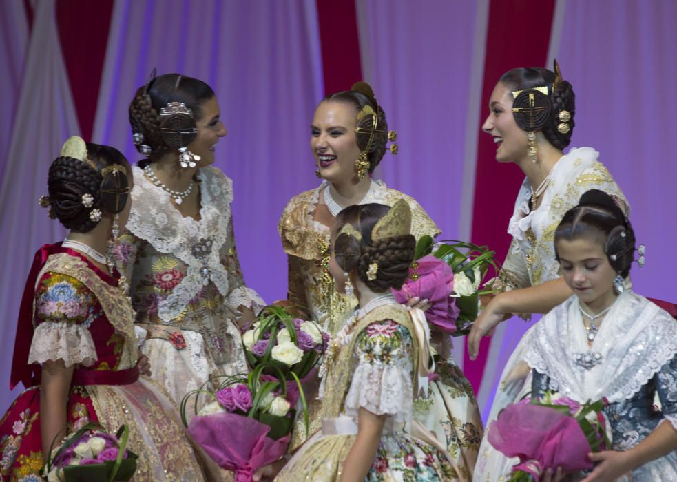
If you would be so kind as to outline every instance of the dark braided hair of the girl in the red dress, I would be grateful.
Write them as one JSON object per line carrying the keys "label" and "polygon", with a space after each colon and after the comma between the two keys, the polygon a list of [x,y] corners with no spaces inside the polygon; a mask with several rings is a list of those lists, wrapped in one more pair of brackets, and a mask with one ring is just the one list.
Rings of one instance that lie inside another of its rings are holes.
{"label": "dark braided hair of the girl in the red dress", "polygon": [[[63,227],[86,233],[98,224],[90,214],[94,209],[103,213],[122,211],[129,198],[129,180],[124,172],[115,174],[112,165],[130,172],[125,156],[114,147],[87,144],[87,160],[59,156],[50,165],[48,174],[48,203],[50,213]],[[103,173],[103,174],[102,174]],[[83,196],[91,201],[83,202]]]}

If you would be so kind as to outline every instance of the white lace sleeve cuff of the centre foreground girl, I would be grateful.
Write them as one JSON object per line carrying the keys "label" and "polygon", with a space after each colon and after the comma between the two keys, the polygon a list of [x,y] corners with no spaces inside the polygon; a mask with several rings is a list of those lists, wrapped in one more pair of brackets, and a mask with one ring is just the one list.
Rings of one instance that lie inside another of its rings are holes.
{"label": "white lace sleeve cuff of the centre foreground girl", "polygon": [[390,415],[395,423],[413,417],[413,386],[401,366],[360,362],[344,403],[348,417],[357,421],[360,407],[375,415]]}

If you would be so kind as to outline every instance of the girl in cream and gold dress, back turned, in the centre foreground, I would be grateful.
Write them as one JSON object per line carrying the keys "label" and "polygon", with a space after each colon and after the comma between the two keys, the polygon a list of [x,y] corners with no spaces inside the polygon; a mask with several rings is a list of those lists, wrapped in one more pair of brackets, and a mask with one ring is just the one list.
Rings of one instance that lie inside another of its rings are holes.
{"label": "girl in cream and gold dress, back turned, in the centre foreground", "polygon": [[353,205],[337,216],[331,275],[337,286],[353,286],[359,308],[333,337],[326,355],[322,430],[275,480],[437,481],[457,476],[446,446],[413,419],[414,399],[426,389],[421,380],[427,381],[425,315],[397,303],[390,293],[402,286],[414,259],[411,217],[406,200],[391,208]]}

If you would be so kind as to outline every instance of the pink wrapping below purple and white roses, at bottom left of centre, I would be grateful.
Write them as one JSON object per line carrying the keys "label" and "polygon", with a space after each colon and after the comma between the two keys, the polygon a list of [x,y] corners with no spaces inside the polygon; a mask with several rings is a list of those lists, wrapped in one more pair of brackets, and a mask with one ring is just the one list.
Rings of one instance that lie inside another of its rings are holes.
{"label": "pink wrapping below purple and white roses, at bottom left of centre", "polygon": [[289,435],[279,440],[267,437],[270,427],[250,417],[216,413],[191,419],[191,437],[222,468],[235,471],[236,482],[251,482],[258,468],[287,452]]}

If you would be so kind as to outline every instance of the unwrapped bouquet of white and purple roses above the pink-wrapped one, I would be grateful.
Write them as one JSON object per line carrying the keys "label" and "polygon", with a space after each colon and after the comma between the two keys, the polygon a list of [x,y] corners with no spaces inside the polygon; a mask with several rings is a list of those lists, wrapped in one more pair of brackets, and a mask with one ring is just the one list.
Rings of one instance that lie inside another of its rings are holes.
{"label": "unwrapped bouquet of white and purple roses above the pink-wrapped one", "polygon": [[256,322],[242,334],[242,343],[250,366],[267,366],[264,376],[274,376],[273,368],[284,375],[282,379],[287,380],[295,403],[295,389],[320,361],[329,333],[313,321],[292,318],[287,309],[271,305],[263,308]]}

